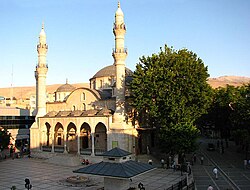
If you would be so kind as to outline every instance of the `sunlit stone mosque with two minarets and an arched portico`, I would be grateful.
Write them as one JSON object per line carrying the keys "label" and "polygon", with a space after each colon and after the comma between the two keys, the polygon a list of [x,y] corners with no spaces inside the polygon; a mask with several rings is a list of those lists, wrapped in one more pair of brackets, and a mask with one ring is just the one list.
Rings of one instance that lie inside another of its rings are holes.
{"label": "sunlit stone mosque with two minarets and an arched portico", "polygon": [[96,156],[119,147],[135,153],[138,132],[128,106],[132,71],[125,67],[126,27],[120,3],[113,33],[114,64],[98,71],[90,79],[89,88],[75,88],[66,82],[56,90],[55,100],[46,102],[48,45],[42,26],[37,45],[36,122],[30,129],[31,151]]}

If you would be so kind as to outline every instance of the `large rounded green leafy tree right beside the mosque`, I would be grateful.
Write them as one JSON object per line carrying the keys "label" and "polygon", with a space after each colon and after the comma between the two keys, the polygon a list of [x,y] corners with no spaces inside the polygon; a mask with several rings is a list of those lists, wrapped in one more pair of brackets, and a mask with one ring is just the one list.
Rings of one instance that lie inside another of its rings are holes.
{"label": "large rounded green leafy tree right beside the mosque", "polygon": [[140,58],[131,83],[132,105],[141,127],[157,129],[165,151],[192,148],[198,134],[193,123],[211,100],[208,77],[203,61],[187,49],[165,46],[158,54]]}

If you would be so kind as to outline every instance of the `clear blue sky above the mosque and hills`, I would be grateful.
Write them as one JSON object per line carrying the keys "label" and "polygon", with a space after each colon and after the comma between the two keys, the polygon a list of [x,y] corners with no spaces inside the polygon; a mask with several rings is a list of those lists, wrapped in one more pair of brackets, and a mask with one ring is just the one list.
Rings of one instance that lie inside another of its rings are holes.
{"label": "clear blue sky above the mosque and hills", "polygon": [[[250,77],[249,0],[121,0],[121,8],[131,70],[168,44],[197,53],[211,77]],[[113,64],[116,9],[117,0],[1,0],[0,87],[35,85],[43,21],[47,84],[88,82]]]}

